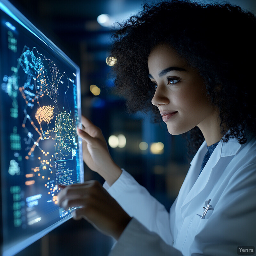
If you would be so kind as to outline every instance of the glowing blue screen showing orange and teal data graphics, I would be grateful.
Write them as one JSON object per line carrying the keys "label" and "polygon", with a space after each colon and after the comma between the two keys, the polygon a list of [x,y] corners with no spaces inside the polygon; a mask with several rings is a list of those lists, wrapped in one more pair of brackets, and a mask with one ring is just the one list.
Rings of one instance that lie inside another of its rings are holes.
{"label": "glowing blue screen showing orange and teal data graphics", "polygon": [[[71,217],[58,184],[83,179],[79,68],[0,10],[3,253],[14,255]],[[83,181],[83,180],[82,180]]]}

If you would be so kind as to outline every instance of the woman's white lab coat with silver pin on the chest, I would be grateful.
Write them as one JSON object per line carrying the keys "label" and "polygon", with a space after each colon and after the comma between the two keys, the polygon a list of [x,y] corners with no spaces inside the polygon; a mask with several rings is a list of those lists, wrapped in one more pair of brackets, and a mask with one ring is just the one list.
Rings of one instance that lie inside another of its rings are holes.
{"label": "woman's white lab coat with silver pin on the chest", "polygon": [[206,151],[204,141],[170,213],[125,170],[104,183],[133,217],[109,256],[234,256],[237,246],[256,247],[256,139],[220,142],[198,177]]}

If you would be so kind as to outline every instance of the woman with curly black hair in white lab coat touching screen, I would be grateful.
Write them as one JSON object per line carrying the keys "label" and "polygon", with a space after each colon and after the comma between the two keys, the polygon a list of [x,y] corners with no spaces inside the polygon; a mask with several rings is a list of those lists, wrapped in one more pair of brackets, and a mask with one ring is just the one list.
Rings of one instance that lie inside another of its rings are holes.
{"label": "woman with curly black hair in white lab coat touching screen", "polygon": [[188,132],[196,154],[169,213],[82,118],[84,161],[108,192],[87,181],[63,187],[58,200],[81,206],[75,219],[117,240],[109,255],[227,256],[255,247],[255,28],[240,7],[172,0],[145,4],[114,35],[115,84],[128,108],[153,106],[169,133]]}

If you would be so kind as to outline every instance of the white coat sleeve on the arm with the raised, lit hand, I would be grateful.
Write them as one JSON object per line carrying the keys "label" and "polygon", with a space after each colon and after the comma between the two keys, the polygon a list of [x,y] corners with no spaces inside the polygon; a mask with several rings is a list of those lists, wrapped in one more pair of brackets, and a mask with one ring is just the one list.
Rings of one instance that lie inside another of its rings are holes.
{"label": "white coat sleeve on the arm with the raised, lit hand", "polygon": [[140,221],[149,231],[161,236],[165,243],[172,244],[169,212],[131,174],[123,169],[111,187],[106,183],[103,187],[131,217]]}

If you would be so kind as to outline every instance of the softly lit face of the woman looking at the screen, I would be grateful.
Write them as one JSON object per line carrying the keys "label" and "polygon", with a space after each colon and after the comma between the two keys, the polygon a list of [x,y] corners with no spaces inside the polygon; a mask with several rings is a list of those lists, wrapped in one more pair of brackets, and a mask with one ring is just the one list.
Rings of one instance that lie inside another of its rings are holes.
{"label": "softly lit face of the woman looking at the screen", "polygon": [[148,57],[149,78],[156,88],[152,104],[157,106],[169,133],[188,132],[198,126],[211,129],[216,108],[206,98],[203,79],[168,45],[158,45]]}

